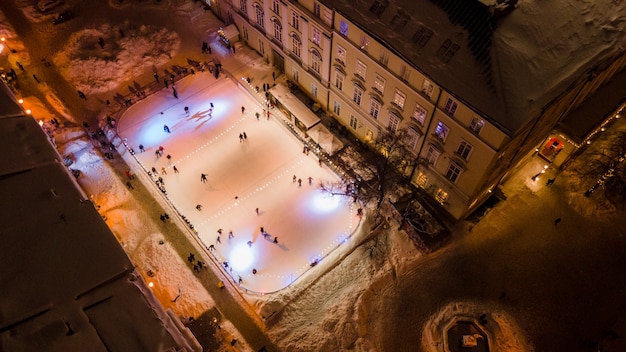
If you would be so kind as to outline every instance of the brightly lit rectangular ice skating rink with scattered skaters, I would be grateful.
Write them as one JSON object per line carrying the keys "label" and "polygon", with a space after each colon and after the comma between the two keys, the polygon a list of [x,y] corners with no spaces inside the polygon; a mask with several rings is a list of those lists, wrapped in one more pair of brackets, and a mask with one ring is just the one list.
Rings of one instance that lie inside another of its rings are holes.
{"label": "brightly lit rectangular ice skating rink with scattered skaters", "polygon": [[[205,247],[214,246],[216,259],[228,263],[226,272],[235,281],[241,277],[243,288],[261,293],[284,288],[355,230],[358,206],[318,186],[339,177],[326,165],[320,167],[313,153],[303,153],[302,142],[280,117],[268,120],[263,106],[223,76],[216,80],[197,73],[179,81],[176,90],[178,98],[170,86],[130,107],[118,122],[118,133],[145,170],[157,170],[155,178],[163,179],[167,198]],[[244,132],[247,138],[241,140]],[[160,146],[163,156],[157,157]],[[229,238],[230,231],[234,237]]]}

